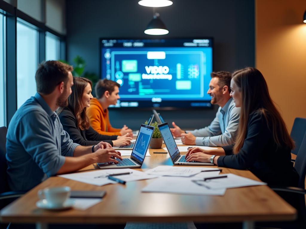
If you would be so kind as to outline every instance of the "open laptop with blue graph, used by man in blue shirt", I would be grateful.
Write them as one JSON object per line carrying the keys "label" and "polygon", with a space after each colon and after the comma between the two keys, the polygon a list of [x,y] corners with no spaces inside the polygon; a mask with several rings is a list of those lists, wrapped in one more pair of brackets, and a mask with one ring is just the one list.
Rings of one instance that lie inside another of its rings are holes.
{"label": "open laptop with blue graph, used by man in blue shirt", "polygon": [[130,158],[122,158],[122,161],[116,158],[118,164],[106,162],[97,163],[97,165],[100,169],[140,168],[144,162],[153,132],[154,126],[141,124]]}

